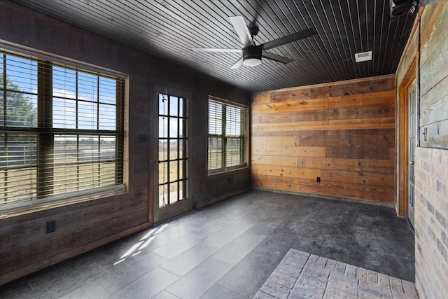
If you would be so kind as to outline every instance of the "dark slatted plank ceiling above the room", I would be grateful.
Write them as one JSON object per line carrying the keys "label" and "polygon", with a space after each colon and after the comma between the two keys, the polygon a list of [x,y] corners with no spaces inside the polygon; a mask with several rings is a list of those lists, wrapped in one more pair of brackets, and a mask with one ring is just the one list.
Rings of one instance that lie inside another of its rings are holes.
{"label": "dark slatted plank ceiling above the room", "polygon": [[[389,0],[13,1],[248,92],[394,74],[416,15],[391,18]],[[260,28],[256,44],[307,28],[317,34],[269,50],[290,64],[263,59],[231,69],[241,54],[191,50],[242,48],[232,15]],[[354,54],[365,51],[372,60],[355,62]]]}

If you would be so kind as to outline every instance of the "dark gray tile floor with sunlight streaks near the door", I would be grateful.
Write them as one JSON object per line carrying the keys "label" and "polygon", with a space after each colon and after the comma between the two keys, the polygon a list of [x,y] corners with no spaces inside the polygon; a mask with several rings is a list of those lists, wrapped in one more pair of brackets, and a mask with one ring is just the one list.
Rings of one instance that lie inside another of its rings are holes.
{"label": "dark gray tile floor with sunlight streaks near the door", "polygon": [[0,286],[0,298],[253,298],[289,249],[414,281],[390,207],[251,190]]}

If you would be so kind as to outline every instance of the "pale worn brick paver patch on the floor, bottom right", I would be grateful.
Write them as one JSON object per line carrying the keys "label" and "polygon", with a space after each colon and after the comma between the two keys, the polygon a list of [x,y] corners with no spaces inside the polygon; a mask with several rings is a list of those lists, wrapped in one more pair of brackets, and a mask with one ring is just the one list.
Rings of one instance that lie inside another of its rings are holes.
{"label": "pale worn brick paver patch on the floor, bottom right", "polygon": [[290,249],[254,298],[419,297],[410,281]]}

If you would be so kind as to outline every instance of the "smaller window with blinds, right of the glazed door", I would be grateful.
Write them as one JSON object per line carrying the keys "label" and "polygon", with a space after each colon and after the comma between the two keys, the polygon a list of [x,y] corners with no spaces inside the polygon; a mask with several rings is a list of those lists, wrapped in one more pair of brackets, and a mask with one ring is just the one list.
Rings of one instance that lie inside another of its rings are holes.
{"label": "smaller window with blinds, right of the glazed door", "polygon": [[246,166],[246,107],[209,99],[209,173]]}

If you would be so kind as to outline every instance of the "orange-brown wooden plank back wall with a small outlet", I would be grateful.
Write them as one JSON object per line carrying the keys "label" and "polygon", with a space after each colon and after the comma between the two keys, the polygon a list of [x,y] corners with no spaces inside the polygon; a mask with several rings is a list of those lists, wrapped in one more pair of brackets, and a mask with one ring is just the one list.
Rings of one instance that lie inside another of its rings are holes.
{"label": "orange-brown wooden plank back wall with a small outlet", "polygon": [[257,93],[251,121],[252,186],[393,203],[394,76]]}

